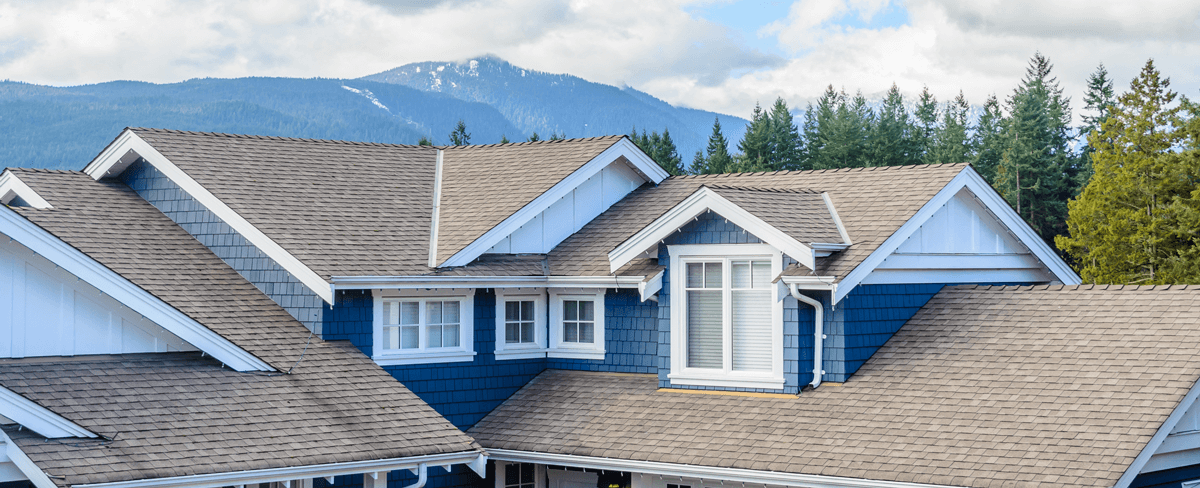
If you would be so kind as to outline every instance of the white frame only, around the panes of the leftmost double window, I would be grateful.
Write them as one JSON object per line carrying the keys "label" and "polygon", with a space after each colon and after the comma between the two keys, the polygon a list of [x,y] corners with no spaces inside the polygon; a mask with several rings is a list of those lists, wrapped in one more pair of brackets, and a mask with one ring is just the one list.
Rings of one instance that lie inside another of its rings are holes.
{"label": "white frame only, around the panes of the leftmost double window", "polygon": [[[374,302],[374,319],[372,320],[372,347],[371,359],[379,366],[397,365],[427,365],[437,362],[464,362],[475,360],[475,290],[474,289],[446,289],[446,290],[371,290]],[[420,301],[421,313],[421,347],[418,349],[384,350],[383,348],[383,302],[385,300],[416,300]],[[427,301],[457,301],[458,302],[458,347],[457,348],[426,348],[426,324],[425,302]]]}

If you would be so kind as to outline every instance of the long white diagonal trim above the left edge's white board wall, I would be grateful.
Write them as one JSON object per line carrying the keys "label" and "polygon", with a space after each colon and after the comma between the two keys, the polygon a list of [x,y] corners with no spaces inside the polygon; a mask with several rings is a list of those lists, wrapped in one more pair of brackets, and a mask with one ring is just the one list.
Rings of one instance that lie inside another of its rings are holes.
{"label": "long white diagonal trim above the left edge's white board wall", "polygon": [[125,277],[79,252],[12,209],[0,210],[0,233],[41,254],[59,267],[98,288],[180,339],[239,370],[274,370],[270,365],[212,332],[185,313],[143,290]]}

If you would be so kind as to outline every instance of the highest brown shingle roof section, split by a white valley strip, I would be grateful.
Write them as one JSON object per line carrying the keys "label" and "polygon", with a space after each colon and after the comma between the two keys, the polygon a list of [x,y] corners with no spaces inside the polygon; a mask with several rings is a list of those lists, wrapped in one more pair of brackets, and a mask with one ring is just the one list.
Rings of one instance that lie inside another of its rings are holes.
{"label": "highest brown shingle roof section, split by a white valley strip", "polygon": [[326,281],[434,271],[438,149],[440,261],[623,137],[432,147],[130,131]]}

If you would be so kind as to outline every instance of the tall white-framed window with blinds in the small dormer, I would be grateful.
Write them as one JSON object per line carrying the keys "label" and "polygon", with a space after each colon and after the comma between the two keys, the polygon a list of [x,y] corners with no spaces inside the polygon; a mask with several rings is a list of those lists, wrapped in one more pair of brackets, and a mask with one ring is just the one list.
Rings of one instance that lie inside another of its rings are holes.
{"label": "tall white-framed window with blinds in the small dormer", "polygon": [[766,245],[671,246],[671,375],[679,385],[782,387],[782,257]]}

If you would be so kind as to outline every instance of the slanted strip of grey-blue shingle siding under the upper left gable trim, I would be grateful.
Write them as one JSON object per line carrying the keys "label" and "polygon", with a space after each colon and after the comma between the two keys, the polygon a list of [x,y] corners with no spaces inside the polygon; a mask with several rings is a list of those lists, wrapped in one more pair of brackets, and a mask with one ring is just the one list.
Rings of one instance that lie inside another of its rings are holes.
{"label": "slanted strip of grey-blue shingle siding under the upper left gable trim", "polygon": [[138,159],[119,177],[308,330],[322,333],[325,305],[320,297],[162,171]]}

